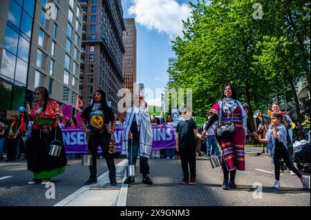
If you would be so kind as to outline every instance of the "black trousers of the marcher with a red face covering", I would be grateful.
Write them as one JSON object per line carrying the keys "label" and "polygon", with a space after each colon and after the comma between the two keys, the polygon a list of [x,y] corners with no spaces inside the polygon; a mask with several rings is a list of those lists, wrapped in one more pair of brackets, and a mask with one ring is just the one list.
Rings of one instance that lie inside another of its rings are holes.
{"label": "black trousers of the marcher with a red face covering", "polygon": [[102,152],[104,157],[106,158],[107,166],[109,169],[109,179],[111,181],[115,181],[115,162],[113,160],[113,155],[109,154],[109,141],[110,137],[96,137],[94,135],[90,135],[88,139],[88,150],[92,154],[93,165],[89,166],[91,172],[91,178],[96,178],[97,174],[97,149],[98,146],[102,148]]}

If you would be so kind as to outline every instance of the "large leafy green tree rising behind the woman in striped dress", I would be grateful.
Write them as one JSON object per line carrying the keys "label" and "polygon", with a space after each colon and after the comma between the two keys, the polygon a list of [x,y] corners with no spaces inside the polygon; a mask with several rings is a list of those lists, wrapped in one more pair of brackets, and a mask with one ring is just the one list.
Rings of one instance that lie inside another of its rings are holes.
{"label": "large leafy green tree rising behind the woman in striped dress", "polygon": [[[205,1],[191,4],[192,16],[184,22],[184,37],[173,41],[178,61],[171,70],[175,83],[170,86],[193,89],[197,115],[206,116],[226,83],[236,88],[249,119],[253,108],[269,100],[269,85],[254,55],[260,53],[256,43],[270,28],[263,28],[267,21],[253,18],[254,3],[215,0],[208,7]],[[249,123],[254,128],[254,121]]]}

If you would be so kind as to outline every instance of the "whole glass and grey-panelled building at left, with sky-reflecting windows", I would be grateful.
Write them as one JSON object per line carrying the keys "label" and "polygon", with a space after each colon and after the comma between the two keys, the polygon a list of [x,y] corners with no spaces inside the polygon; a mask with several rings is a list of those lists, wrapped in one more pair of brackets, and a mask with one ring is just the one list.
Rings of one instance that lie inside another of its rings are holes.
{"label": "whole glass and grey-panelled building at left, with sky-reflecting windows", "polygon": [[75,106],[82,38],[77,0],[0,1],[0,28],[0,109],[33,101],[38,86]]}

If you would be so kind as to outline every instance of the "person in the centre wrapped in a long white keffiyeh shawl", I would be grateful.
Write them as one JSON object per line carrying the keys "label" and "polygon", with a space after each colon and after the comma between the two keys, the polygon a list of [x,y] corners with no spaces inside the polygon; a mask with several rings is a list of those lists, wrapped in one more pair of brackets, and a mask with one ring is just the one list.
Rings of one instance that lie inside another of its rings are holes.
{"label": "person in the centre wrapped in a long white keffiyeh shawl", "polygon": [[[128,154],[129,166],[136,164],[138,153],[140,155],[140,173],[142,173],[142,183],[151,185],[152,181],[147,176],[149,174],[148,159],[151,154],[153,142],[153,131],[147,102],[141,94],[135,95],[134,106],[126,112],[124,122],[124,132],[122,138],[122,154]],[[128,177],[124,183],[135,182],[135,178]]]}

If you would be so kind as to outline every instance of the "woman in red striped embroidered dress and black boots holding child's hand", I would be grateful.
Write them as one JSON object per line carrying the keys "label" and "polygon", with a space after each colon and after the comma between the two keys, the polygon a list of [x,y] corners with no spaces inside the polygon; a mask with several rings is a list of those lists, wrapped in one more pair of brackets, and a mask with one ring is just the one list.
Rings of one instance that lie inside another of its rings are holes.
{"label": "woman in red striped embroidered dress and black boots holding child's hand", "polygon": [[[211,117],[205,123],[202,135],[205,137],[207,130],[219,119],[220,124],[233,121],[236,132],[232,137],[218,137],[216,139],[221,147],[221,161],[223,166],[223,189],[236,188],[236,170],[245,170],[245,134],[247,132],[247,114],[236,99],[236,92],[230,85],[223,88],[220,100],[209,110]],[[230,179],[229,179],[230,176]]]}

